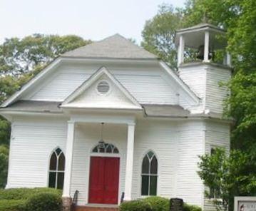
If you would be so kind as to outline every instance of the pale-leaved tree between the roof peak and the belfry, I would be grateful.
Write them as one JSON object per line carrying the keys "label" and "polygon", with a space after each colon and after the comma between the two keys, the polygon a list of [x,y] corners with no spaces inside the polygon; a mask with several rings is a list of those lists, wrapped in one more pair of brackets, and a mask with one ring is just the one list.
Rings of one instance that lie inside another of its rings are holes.
{"label": "pale-leaved tree between the roof peak and the belfry", "polygon": [[180,27],[181,12],[173,6],[163,4],[153,19],[146,21],[142,31],[141,46],[158,55],[170,66],[177,66],[177,51],[175,48],[175,30]]}

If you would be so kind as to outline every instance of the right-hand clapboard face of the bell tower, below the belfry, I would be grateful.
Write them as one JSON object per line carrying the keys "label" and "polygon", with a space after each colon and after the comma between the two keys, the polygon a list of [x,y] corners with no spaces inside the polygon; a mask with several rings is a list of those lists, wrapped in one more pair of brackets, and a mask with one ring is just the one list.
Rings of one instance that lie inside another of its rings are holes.
{"label": "right-hand clapboard face of the bell tower, below the belfry", "polygon": [[230,71],[222,68],[208,68],[206,82],[205,107],[212,112],[222,113],[223,101],[227,98],[227,88],[220,86],[230,79]]}

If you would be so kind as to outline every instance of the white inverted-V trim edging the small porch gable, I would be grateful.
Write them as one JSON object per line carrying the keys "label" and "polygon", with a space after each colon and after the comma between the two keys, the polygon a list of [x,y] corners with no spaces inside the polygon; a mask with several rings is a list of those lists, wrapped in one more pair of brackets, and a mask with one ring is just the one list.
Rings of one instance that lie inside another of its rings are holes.
{"label": "white inverted-V trim edging the small porch gable", "polygon": [[108,76],[110,80],[119,88],[119,90],[134,104],[138,107],[138,109],[143,109],[138,103],[138,101],[127,91],[127,89],[108,71],[108,69],[105,66],[102,66],[98,69],[91,77],[89,77],[86,81],[84,81],[81,86],[76,88],[73,93],[71,93],[64,101],[61,103],[62,108],[69,108],[68,103],[71,103],[75,98],[81,95],[83,91],[85,91],[87,88],[89,88],[93,83],[95,83],[98,78],[100,78],[103,75]]}

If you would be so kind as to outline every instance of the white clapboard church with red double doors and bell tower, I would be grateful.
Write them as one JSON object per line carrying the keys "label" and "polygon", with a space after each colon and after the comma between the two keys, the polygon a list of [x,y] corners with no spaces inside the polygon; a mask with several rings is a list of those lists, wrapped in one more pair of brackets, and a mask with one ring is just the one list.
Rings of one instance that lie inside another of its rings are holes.
{"label": "white clapboard church with red double doors and bell tower", "polygon": [[[177,31],[178,71],[118,34],[63,53],[0,108],[11,122],[6,188],[54,187],[78,206],[150,195],[214,210],[198,155],[230,148],[230,55],[210,24]],[[187,61],[187,48],[199,48]]]}

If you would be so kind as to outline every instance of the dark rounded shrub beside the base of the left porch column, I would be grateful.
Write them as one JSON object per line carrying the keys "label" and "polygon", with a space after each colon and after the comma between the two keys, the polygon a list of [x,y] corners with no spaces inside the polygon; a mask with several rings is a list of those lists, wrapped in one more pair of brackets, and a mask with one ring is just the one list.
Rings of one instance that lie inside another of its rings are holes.
{"label": "dark rounded shrub beside the base of the left porch column", "polygon": [[29,197],[26,211],[61,211],[61,196],[56,193],[41,192]]}

